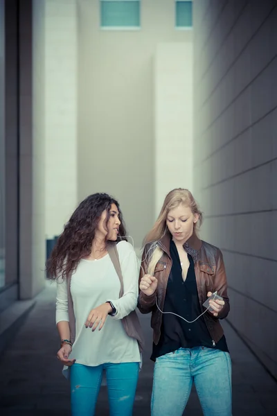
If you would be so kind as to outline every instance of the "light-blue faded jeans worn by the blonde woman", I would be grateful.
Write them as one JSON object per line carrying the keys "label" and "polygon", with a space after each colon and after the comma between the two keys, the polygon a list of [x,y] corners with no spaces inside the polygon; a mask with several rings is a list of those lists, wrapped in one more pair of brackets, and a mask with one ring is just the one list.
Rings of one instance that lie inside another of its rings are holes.
{"label": "light-blue faded jeans worn by the blonde woman", "polygon": [[206,347],[179,348],[157,358],[151,415],[183,415],[193,381],[205,416],[232,415],[229,353]]}

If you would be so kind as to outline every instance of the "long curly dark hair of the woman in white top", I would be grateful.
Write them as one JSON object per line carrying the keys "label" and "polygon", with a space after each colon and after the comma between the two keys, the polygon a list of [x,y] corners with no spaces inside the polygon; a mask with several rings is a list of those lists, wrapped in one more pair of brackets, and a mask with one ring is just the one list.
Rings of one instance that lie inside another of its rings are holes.
{"label": "long curly dark hair of the woman in white top", "polygon": [[64,225],[64,231],[57,239],[57,243],[46,262],[48,279],[57,277],[66,279],[76,270],[80,259],[91,254],[91,243],[96,234],[96,227],[103,211],[107,211],[105,226],[109,220],[109,209],[115,204],[120,219],[117,241],[127,241],[126,229],[118,201],[107,193],[93,193],[85,198],[75,209],[69,222]]}

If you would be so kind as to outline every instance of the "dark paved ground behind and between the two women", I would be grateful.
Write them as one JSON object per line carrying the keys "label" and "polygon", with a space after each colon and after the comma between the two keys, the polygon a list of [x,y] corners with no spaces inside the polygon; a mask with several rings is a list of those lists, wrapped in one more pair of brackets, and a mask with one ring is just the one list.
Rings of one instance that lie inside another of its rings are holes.
{"label": "dark paved ground behind and between the two women", "polygon": [[[151,331],[148,315],[140,315],[148,343],[134,406],[134,416],[150,416],[153,363],[149,360]],[[276,416],[277,384],[225,322],[233,361],[233,416]],[[1,416],[70,415],[69,383],[55,358],[55,290],[37,297],[37,304],[0,357]],[[96,416],[108,416],[107,391],[101,388]],[[193,390],[184,415],[200,416]],[[170,416],[170,415],[168,415]],[[222,415],[224,416],[224,415]]]}

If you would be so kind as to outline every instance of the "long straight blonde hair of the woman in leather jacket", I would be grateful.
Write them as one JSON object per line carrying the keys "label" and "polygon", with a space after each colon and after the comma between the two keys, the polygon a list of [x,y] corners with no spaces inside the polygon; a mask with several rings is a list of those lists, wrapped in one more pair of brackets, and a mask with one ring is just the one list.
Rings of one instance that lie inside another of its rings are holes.
{"label": "long straight blonde hair of the woman in leather jacket", "polygon": [[154,223],[154,226],[152,229],[150,229],[150,232],[148,232],[148,234],[145,236],[145,239],[143,240],[143,246],[149,243],[150,245],[148,251],[152,252],[147,270],[150,275],[153,275],[156,264],[163,255],[163,250],[159,248],[157,241],[159,241],[168,231],[168,227],[166,225],[166,217],[168,216],[168,212],[171,209],[179,207],[181,204],[185,205],[186,207],[190,207],[193,214],[199,215],[199,220],[194,225],[194,231],[197,232],[197,225],[198,227],[202,225],[203,214],[202,211],[199,210],[197,202],[195,201],[195,198],[193,198],[193,194],[188,191],[188,189],[172,189],[172,191],[168,193],[163,202],[163,206],[161,207],[161,212],[157,218],[156,223]]}

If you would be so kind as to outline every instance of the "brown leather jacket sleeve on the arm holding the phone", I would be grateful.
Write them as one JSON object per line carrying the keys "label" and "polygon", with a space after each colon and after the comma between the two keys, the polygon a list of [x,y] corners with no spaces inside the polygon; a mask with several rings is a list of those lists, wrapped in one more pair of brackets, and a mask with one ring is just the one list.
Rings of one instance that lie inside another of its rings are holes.
{"label": "brown leather jacket sleeve on the arm holding the phone", "polygon": [[217,260],[216,260],[216,270],[215,270],[215,281],[214,281],[215,291],[218,295],[222,296],[224,299],[224,306],[220,313],[217,315],[217,319],[224,319],[230,311],[229,297],[227,294],[227,279],[226,271],[223,261],[222,252],[218,249]]}

